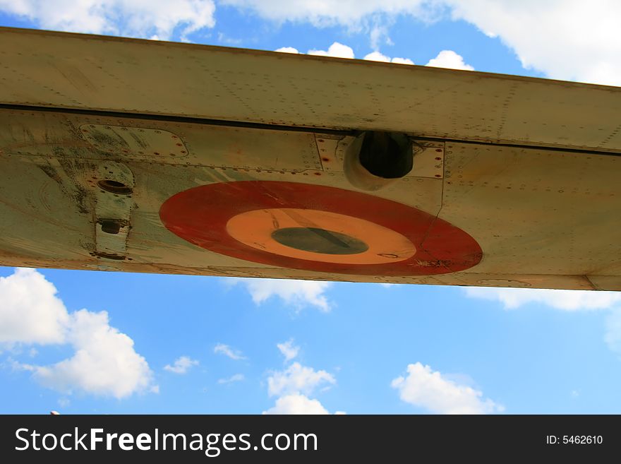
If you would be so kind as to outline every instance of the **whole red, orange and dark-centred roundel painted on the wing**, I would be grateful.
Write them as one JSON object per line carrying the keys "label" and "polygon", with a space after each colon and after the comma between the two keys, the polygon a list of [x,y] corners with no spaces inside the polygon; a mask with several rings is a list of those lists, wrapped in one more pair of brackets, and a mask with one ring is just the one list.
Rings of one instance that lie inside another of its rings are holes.
{"label": "whole red, orange and dark-centred roundel painted on the wing", "polygon": [[241,181],[194,187],[159,210],[174,234],[215,253],[282,268],[434,275],[471,268],[481,247],[417,208],[336,187]]}

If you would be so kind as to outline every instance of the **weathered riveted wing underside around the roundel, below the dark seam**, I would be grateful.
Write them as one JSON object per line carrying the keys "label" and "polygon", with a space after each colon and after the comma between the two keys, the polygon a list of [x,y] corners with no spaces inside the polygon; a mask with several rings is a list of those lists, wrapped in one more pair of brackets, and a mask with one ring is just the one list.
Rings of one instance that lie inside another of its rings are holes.
{"label": "weathered riveted wing underside around the roundel, below the dark seam", "polygon": [[[126,138],[139,143],[123,145]],[[443,166],[423,159],[376,195],[439,215],[477,240],[483,261],[446,275],[387,278],[275,268],[201,249],[171,234],[159,220],[167,198],[213,182],[286,180],[351,189],[339,168],[339,142],[346,144],[348,138],[0,111],[0,263],[452,285],[619,287],[621,229],[613,212],[621,208],[621,160],[611,155],[428,143],[423,153],[434,160],[440,155]],[[322,144],[329,148],[317,148]],[[252,155],[240,156],[246,152]],[[131,198],[97,186],[98,180],[110,178],[133,187]],[[131,227],[104,234],[98,221],[110,217],[126,218]],[[97,258],[98,253],[126,258]]]}

